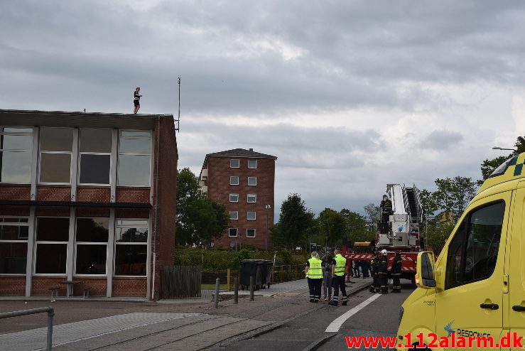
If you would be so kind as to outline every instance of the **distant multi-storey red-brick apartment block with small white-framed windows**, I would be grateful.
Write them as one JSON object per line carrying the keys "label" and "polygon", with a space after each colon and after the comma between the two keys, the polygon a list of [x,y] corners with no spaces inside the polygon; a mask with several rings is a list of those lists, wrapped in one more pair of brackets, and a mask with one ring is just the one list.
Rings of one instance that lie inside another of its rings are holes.
{"label": "distant multi-storey red-brick apartment block with small white-framed windows", "polygon": [[241,247],[243,244],[271,249],[274,224],[274,185],[276,156],[255,152],[253,148],[208,153],[200,171],[200,186],[208,198],[226,206],[230,227],[215,247]]}

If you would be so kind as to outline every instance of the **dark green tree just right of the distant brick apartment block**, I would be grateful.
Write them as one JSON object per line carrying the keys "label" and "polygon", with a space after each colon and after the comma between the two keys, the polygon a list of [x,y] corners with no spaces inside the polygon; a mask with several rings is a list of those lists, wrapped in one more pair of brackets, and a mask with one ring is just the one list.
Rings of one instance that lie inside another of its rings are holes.
{"label": "dark green tree just right of the distant brick apartment block", "polygon": [[304,237],[305,230],[310,227],[313,212],[306,208],[299,194],[289,194],[281,204],[279,221],[272,229],[272,239],[277,245],[295,248]]}

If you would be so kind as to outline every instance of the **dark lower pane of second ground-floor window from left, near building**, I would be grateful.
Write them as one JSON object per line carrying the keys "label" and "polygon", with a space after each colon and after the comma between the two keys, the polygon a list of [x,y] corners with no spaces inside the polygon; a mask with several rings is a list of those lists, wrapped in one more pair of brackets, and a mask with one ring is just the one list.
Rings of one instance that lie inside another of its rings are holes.
{"label": "dark lower pane of second ground-floor window from left, near building", "polygon": [[67,244],[37,244],[36,274],[65,274]]}

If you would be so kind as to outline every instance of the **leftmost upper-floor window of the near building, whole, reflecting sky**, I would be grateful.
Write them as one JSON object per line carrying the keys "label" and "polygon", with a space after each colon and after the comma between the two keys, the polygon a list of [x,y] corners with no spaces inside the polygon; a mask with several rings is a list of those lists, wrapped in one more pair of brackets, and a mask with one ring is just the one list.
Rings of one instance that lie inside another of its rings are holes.
{"label": "leftmost upper-floor window of the near building, whole, reflecting sky", "polygon": [[0,126],[0,183],[31,183],[33,129]]}

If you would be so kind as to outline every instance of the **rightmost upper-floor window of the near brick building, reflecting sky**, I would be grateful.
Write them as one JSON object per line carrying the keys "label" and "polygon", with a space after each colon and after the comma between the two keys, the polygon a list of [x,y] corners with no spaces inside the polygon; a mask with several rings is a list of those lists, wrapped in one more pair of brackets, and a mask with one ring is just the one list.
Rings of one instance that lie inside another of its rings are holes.
{"label": "rightmost upper-floor window of the near brick building, reflecting sky", "polygon": [[118,184],[150,186],[151,132],[120,131]]}

